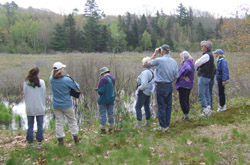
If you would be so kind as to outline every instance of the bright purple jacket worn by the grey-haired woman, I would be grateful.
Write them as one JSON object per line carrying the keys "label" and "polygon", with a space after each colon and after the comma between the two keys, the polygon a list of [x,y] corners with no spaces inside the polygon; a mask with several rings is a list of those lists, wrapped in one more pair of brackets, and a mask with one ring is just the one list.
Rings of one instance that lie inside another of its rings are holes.
{"label": "bright purple jacket worn by the grey-haired woman", "polygon": [[[175,88],[178,90],[179,88],[193,88],[193,82],[194,82],[194,59],[186,60],[183,62],[179,77],[175,83]],[[183,77],[188,77],[190,81],[186,81]]]}

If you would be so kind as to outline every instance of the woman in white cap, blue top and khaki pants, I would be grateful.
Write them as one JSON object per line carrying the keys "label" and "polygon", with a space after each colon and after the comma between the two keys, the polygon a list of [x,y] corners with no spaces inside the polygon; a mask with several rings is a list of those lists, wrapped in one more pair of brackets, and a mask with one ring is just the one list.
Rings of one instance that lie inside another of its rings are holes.
{"label": "woman in white cap, blue top and khaki pants", "polygon": [[52,90],[52,105],[56,117],[56,138],[59,145],[64,144],[64,117],[67,118],[69,131],[74,138],[75,144],[79,143],[78,126],[75,112],[72,108],[73,103],[70,90],[78,90],[80,88],[77,82],[73,81],[69,75],[66,76],[64,74],[65,67],[66,65],[61,62],[54,63],[49,78]]}

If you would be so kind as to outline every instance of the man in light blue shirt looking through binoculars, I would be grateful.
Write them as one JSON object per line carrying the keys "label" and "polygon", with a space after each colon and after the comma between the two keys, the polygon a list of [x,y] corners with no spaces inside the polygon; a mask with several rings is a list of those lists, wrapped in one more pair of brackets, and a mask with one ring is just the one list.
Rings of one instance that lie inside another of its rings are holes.
{"label": "man in light blue shirt looking through binoculars", "polygon": [[[177,62],[169,55],[170,47],[166,44],[156,48],[154,54],[146,64],[156,67],[155,82],[158,104],[158,119],[160,127],[156,130],[167,131],[170,125],[172,111],[172,82],[178,78]],[[156,58],[160,53],[162,57]]]}

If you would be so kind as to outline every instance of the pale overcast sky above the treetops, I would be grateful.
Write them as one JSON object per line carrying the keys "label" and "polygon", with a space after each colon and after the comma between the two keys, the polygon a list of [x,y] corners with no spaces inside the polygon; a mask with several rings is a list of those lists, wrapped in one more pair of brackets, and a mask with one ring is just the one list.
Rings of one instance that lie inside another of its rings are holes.
{"label": "pale overcast sky above the treetops", "polygon": [[[49,9],[59,14],[69,14],[75,8],[83,13],[87,0],[0,0],[0,3],[11,1],[23,8],[31,6]],[[250,0],[96,0],[96,3],[106,15],[124,15],[126,12],[154,15],[157,10],[173,14],[177,6],[182,3],[186,8],[208,11],[215,17],[230,17],[240,6],[247,6],[248,9],[250,6]]]}

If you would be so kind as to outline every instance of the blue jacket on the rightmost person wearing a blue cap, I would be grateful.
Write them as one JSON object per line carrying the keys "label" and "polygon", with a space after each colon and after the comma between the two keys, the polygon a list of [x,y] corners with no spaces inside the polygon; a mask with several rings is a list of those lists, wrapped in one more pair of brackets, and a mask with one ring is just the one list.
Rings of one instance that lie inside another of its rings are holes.
{"label": "blue jacket on the rightmost person wearing a blue cap", "polygon": [[217,61],[216,79],[222,79],[222,81],[226,81],[229,79],[227,61],[224,57],[220,57]]}

